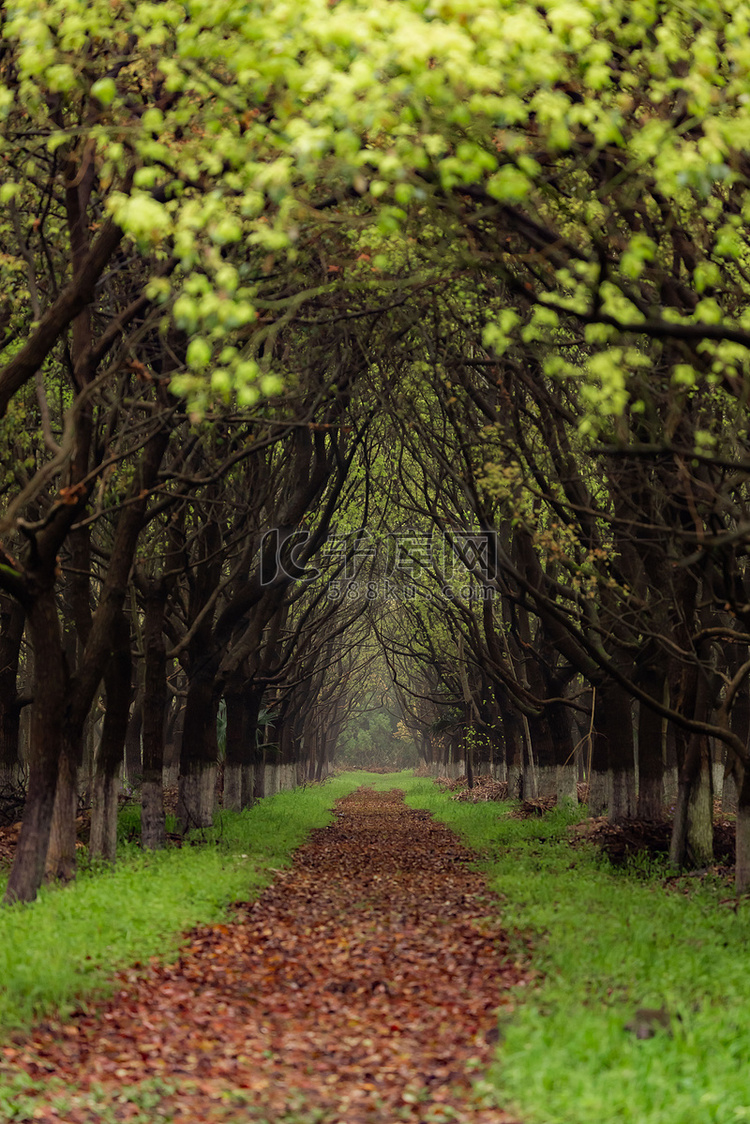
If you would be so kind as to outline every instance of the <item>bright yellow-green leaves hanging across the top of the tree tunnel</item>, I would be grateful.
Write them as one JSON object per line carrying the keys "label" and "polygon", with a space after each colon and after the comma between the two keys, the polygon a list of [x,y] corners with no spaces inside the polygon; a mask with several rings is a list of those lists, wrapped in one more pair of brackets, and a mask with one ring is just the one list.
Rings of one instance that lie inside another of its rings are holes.
{"label": "bright yellow-green leaves hanging across the top of the tree tunnel", "polygon": [[[0,198],[36,215],[51,153],[70,174],[94,162],[103,214],[153,264],[177,259],[150,291],[199,337],[174,382],[199,402],[257,396],[247,336],[277,260],[296,262],[327,228],[367,257],[332,283],[372,283],[419,268],[425,233],[439,229],[448,237],[430,251],[433,266],[459,266],[473,244],[460,224],[451,229],[444,199],[467,187],[523,206],[567,243],[566,262],[551,255],[537,274],[537,303],[580,315],[594,305],[636,325],[643,300],[661,298],[633,285],[670,259],[680,272],[677,221],[695,236],[688,281],[704,298],[677,319],[735,316],[726,282],[739,274],[725,263],[748,257],[738,167],[750,83],[747,11],[732,0],[704,4],[697,22],[689,8],[650,0],[12,0],[3,43],[15,69],[0,75]],[[613,163],[600,184],[588,169],[604,148]],[[341,207],[316,209],[332,192]],[[634,200],[636,229],[623,229]],[[602,229],[606,278],[593,241]],[[6,255],[6,291],[19,291],[24,271],[17,252]],[[505,350],[512,330],[500,314],[488,345]],[[549,307],[518,330],[559,339]],[[591,418],[624,409],[631,351],[609,348],[604,370],[589,366]]]}

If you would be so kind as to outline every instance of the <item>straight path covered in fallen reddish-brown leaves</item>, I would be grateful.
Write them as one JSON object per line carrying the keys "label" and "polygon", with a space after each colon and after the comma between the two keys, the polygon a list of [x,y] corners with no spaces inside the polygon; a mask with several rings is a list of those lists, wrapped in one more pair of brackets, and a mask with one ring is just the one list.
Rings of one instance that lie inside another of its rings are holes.
{"label": "straight path covered in fallen reddish-brown leaves", "polygon": [[526,977],[471,858],[401,794],[362,789],[236,922],[6,1064],[69,1075],[36,1121],[510,1121],[471,1078]]}

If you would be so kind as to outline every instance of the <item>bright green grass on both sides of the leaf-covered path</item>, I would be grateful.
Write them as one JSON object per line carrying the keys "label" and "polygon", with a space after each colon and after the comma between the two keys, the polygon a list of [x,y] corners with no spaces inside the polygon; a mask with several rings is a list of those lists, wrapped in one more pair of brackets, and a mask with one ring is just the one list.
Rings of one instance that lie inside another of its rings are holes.
{"label": "bright green grass on both sides of the leaf-covered path", "polygon": [[[216,845],[143,855],[124,843],[116,868],[1,910],[0,1030],[64,1014],[115,968],[174,952],[181,931],[255,896],[269,868],[363,783],[401,788],[451,826],[480,854],[519,955],[533,936],[542,978],[503,1016],[498,1060],[479,1086],[490,1100],[528,1124],[750,1122],[750,903],[726,900],[720,882],[665,889],[658,863],[615,871],[593,849],[571,850],[577,810],[507,819],[508,805],[460,804],[410,772],[346,773],[223,815],[206,833]],[[137,832],[133,812],[120,826],[123,839]],[[634,1008],[662,1003],[681,1016],[674,1037],[624,1030]],[[20,1104],[26,1090],[7,1093]]]}

